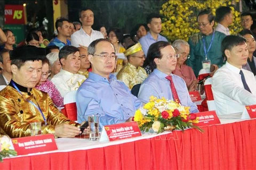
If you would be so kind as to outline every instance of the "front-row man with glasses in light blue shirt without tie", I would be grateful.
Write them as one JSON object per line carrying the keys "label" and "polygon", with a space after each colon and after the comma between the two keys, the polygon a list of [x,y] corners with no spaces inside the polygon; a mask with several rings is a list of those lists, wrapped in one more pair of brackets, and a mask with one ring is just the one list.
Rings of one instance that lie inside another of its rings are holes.
{"label": "front-row man with glasses in light blue shirt without tie", "polygon": [[77,90],[77,121],[99,115],[100,128],[132,121],[141,101],[133,96],[124,82],[110,74],[116,63],[114,46],[107,39],[94,40],[88,47],[92,72]]}

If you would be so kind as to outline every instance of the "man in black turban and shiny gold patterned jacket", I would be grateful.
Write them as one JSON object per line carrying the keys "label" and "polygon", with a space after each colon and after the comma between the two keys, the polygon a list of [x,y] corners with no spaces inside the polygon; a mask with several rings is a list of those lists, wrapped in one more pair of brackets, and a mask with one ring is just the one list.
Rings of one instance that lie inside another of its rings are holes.
{"label": "man in black turban and shiny gold patterned jacket", "polygon": [[55,137],[75,137],[81,131],[79,124],[70,121],[51,98],[35,89],[41,78],[45,49],[21,46],[11,52],[12,80],[0,91],[0,134],[11,138],[30,135],[29,123],[42,122],[42,134]]}

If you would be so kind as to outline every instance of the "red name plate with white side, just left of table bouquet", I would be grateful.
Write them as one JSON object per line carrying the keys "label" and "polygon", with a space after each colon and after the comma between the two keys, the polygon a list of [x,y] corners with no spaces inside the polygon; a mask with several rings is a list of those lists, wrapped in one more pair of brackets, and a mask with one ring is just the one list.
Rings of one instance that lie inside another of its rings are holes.
{"label": "red name plate with white side, just left of table bouquet", "polygon": [[126,122],[103,126],[100,141],[115,141],[140,136],[141,132],[137,122]]}

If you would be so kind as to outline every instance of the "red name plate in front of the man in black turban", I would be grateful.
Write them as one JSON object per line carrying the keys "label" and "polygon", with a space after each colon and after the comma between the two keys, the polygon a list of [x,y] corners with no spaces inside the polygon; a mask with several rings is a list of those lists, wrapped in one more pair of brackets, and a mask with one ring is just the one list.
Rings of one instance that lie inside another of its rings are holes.
{"label": "red name plate in front of the man in black turban", "polygon": [[53,134],[36,135],[12,139],[17,155],[28,155],[37,152],[58,150]]}

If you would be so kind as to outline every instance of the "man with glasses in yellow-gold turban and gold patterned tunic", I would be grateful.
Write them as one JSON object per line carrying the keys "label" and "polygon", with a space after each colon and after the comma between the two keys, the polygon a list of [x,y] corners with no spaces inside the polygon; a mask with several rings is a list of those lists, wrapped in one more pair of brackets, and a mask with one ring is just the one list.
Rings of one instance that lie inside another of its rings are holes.
{"label": "man with glasses in yellow-gold turban and gold patterned tunic", "polygon": [[128,63],[116,77],[123,81],[129,89],[132,89],[133,86],[142,83],[147,78],[146,70],[141,67],[145,61],[145,54],[140,43],[137,43],[128,48],[124,55],[127,57]]}

